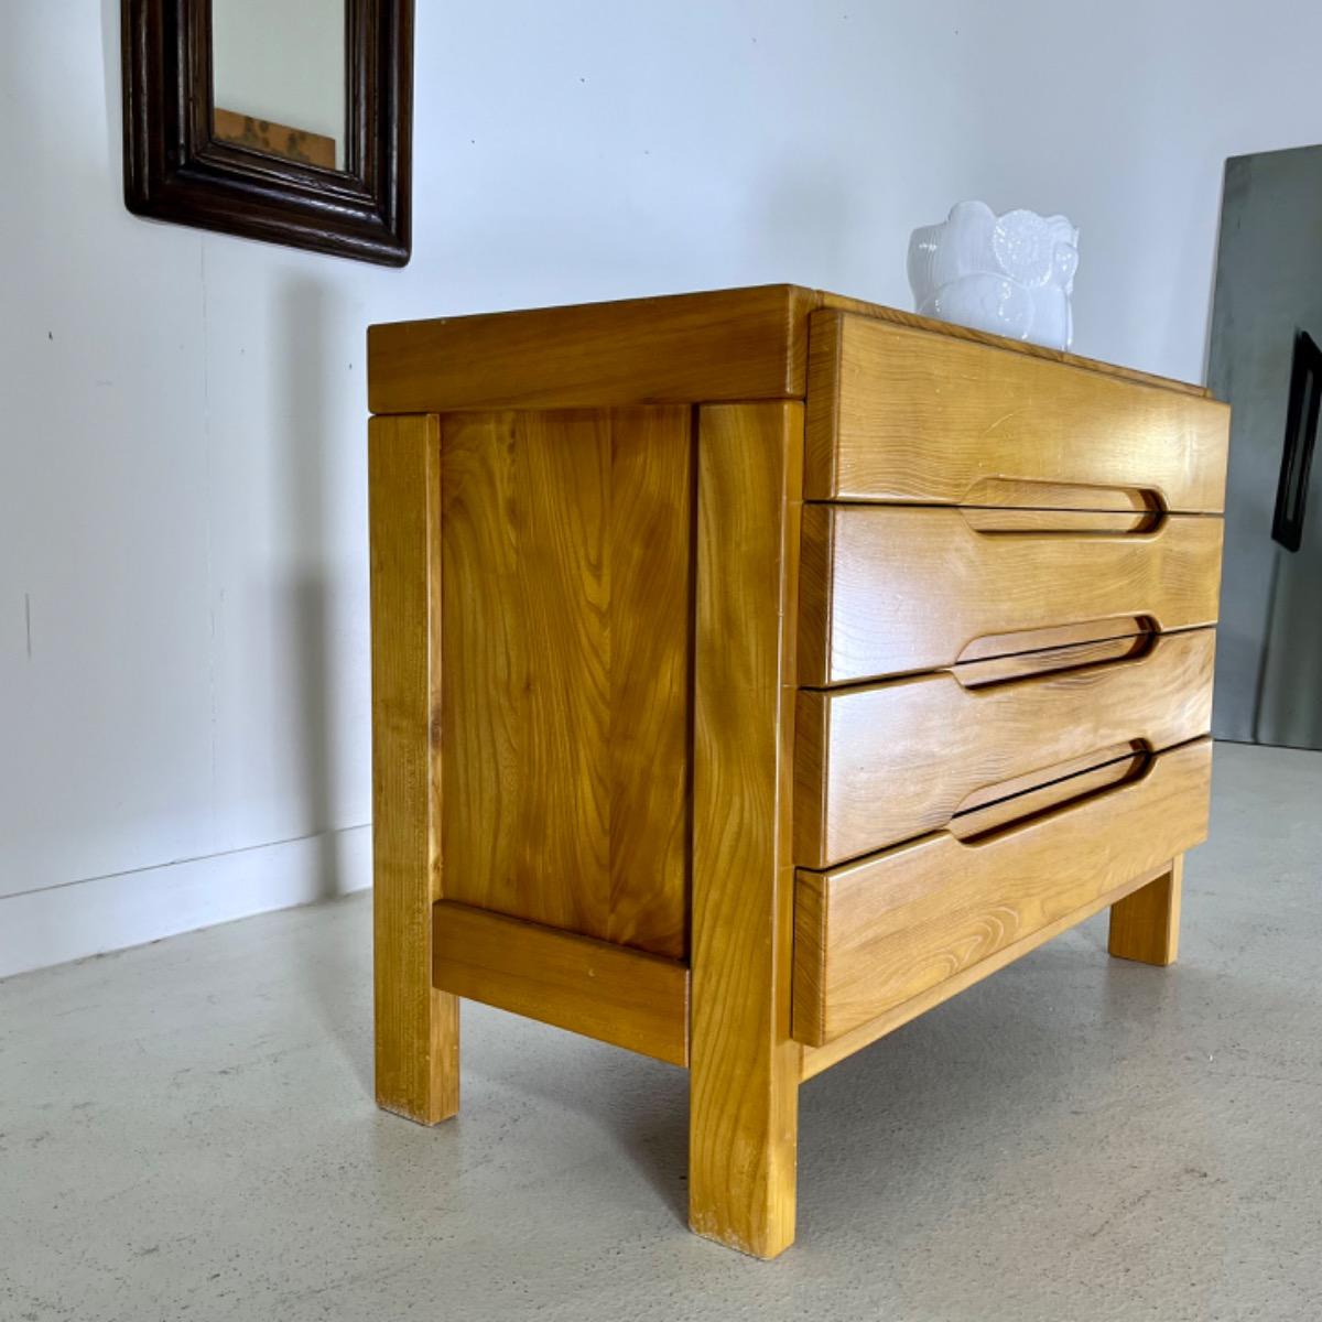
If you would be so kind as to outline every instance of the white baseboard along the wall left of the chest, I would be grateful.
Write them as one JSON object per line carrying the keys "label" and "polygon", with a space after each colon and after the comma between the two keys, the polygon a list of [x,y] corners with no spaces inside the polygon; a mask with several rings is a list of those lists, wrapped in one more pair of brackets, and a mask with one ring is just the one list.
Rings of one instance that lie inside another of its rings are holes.
{"label": "white baseboard along the wall left of the chest", "polygon": [[0,899],[0,978],[371,884],[371,828],[95,876]]}

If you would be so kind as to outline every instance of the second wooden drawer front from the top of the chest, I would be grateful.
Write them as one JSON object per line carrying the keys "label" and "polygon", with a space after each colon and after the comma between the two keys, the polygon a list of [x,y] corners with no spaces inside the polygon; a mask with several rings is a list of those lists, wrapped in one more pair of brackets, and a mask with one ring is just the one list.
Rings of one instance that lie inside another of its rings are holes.
{"label": "second wooden drawer front from the top of the chest", "polygon": [[[1174,514],[1151,533],[985,533],[958,509],[805,505],[800,683],[936,670],[1029,650],[1009,635],[1144,619],[1214,624],[1222,521]],[[1005,639],[1003,645],[998,640]]]}

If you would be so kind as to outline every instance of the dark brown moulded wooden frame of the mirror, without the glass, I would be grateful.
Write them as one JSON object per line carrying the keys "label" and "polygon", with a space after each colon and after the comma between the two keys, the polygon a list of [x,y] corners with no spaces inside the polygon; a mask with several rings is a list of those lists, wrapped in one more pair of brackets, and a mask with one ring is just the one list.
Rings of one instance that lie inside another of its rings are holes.
{"label": "dark brown moulded wooden frame of the mirror, without the glass", "polygon": [[210,0],[122,0],[124,201],[136,215],[403,266],[412,0],[345,0],[345,169],[212,128]]}

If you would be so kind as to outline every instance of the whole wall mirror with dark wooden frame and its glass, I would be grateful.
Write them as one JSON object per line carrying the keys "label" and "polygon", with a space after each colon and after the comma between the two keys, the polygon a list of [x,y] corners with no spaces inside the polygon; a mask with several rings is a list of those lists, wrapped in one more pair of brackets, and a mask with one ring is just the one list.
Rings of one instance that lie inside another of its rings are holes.
{"label": "whole wall mirror with dark wooden frame and its glass", "polygon": [[403,266],[412,0],[122,0],[137,215]]}

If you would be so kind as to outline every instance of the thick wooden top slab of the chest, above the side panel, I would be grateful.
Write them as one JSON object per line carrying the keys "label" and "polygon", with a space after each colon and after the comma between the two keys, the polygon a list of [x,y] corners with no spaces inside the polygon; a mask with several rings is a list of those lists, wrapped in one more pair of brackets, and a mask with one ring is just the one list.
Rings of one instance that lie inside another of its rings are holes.
{"label": "thick wooden top slab of the chest, above the side panel", "polygon": [[[1200,399],[1200,386],[1003,340],[793,284],[624,299],[564,308],[401,321],[368,329],[373,412],[578,408],[802,399],[808,319],[845,309],[883,327],[994,348],[1010,361],[1060,364]],[[992,357],[998,357],[993,354]]]}

